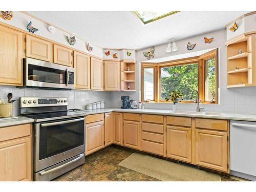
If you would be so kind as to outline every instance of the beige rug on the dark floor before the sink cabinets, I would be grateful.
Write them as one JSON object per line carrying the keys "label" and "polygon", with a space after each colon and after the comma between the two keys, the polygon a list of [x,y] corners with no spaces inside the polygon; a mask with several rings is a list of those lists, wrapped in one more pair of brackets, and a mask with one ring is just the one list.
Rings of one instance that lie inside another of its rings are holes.
{"label": "beige rug on the dark floor before the sink cabinets", "polygon": [[217,174],[138,153],[133,153],[119,165],[161,181],[221,181]]}

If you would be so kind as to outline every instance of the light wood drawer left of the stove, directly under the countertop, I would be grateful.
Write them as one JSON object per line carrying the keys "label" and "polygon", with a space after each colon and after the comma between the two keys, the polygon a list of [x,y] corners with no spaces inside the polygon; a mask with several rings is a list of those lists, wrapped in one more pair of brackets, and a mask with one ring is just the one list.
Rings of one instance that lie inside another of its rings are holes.
{"label": "light wood drawer left of the stove, directly under the countertop", "polygon": [[19,137],[29,136],[30,134],[30,124],[4,127],[0,129],[0,142]]}

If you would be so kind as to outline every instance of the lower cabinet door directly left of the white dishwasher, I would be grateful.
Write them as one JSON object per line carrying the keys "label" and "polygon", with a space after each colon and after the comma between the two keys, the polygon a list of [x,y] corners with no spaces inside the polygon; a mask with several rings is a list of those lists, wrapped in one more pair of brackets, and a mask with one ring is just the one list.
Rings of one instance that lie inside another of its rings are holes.
{"label": "lower cabinet door directly left of the white dishwasher", "polygon": [[227,132],[196,129],[196,164],[227,172]]}

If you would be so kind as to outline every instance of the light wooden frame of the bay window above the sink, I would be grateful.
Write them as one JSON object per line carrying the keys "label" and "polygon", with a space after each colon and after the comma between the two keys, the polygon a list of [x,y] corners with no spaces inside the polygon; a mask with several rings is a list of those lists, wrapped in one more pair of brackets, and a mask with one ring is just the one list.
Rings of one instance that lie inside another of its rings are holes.
{"label": "light wooden frame of the bay window above the sink", "polygon": [[[216,66],[216,99],[215,102],[205,101],[205,86],[206,86],[206,68],[205,68],[205,61],[215,57],[215,66]],[[144,68],[154,68],[154,100],[150,102],[159,102],[159,103],[170,103],[172,101],[165,101],[161,100],[161,68],[163,67],[174,67],[180,65],[187,65],[198,63],[198,93],[199,98],[201,99],[202,103],[211,103],[211,104],[218,104],[218,86],[219,86],[219,72],[218,72],[218,48],[211,50],[205,54],[196,57],[189,57],[184,59],[178,59],[173,61],[165,61],[161,63],[148,63],[148,62],[141,62],[141,100],[144,100]],[[184,100],[181,101],[183,103],[193,103],[194,101]]]}

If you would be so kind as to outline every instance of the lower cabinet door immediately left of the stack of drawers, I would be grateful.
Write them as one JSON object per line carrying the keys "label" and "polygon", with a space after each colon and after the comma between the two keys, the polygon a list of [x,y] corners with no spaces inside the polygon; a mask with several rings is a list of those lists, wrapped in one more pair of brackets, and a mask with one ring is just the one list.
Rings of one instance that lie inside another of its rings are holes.
{"label": "lower cabinet door immediately left of the stack of drawers", "polygon": [[123,145],[140,150],[140,122],[123,121]]}

